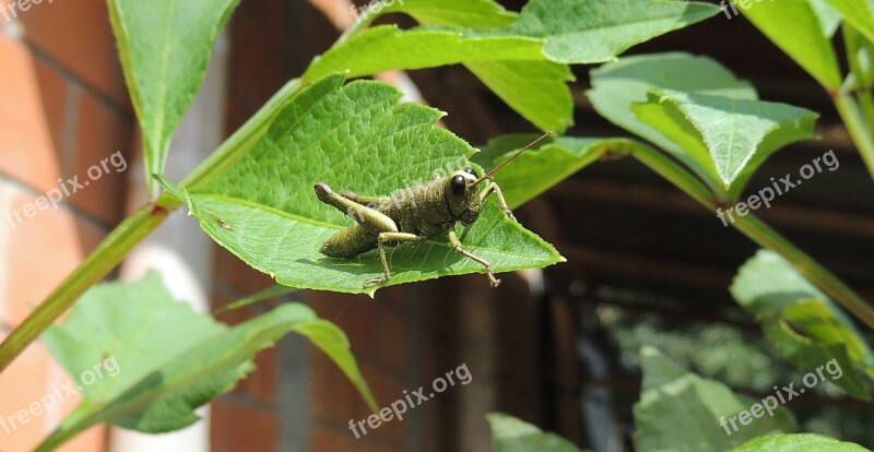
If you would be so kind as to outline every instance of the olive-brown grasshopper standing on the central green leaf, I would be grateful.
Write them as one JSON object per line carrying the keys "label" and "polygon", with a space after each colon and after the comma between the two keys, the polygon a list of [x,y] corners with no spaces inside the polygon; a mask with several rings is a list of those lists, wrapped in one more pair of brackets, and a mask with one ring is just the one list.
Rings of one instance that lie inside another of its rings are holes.
{"label": "olive-brown grasshopper standing on the central green leaf", "polygon": [[[330,258],[349,259],[376,248],[382,264],[382,277],[367,279],[363,286],[367,288],[385,284],[391,276],[386,247],[404,241],[421,242],[448,230],[452,249],[482,264],[488,276],[488,284],[497,287],[500,279],[495,277],[494,266],[464,249],[456,235],[456,223],[461,222],[464,227],[473,224],[480,217],[483,203],[493,193],[500,210],[516,221],[507,207],[500,188],[492,180],[492,175],[550,135],[552,132],[534,140],[483,177],[479,177],[471,167],[459,169],[446,178],[435,175],[430,181],[405,189],[409,195],[403,199],[363,197],[351,191],[338,194],[327,183],[316,183],[314,188],[319,201],[336,207],[355,221],[353,226],[331,236],[319,252]],[[485,180],[488,181],[485,189],[477,190],[476,186]]]}

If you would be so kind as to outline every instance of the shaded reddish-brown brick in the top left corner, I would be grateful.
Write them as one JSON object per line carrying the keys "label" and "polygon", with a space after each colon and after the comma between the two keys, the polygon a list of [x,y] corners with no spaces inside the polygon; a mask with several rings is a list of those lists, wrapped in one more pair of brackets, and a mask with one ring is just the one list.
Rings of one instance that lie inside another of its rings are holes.
{"label": "shaded reddish-brown brick in the top left corner", "polygon": [[130,105],[105,1],[44,1],[19,17],[34,46],[101,93]]}

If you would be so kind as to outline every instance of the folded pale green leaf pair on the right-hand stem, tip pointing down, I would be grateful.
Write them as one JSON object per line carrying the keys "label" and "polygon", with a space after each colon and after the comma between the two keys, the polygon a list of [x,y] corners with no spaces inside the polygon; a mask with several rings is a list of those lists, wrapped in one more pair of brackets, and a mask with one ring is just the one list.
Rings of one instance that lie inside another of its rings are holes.
{"label": "folded pale green leaf pair on the right-hand stem, tip pointing down", "polygon": [[648,55],[592,71],[589,98],[615,124],[665,151],[734,200],[778,148],[813,136],[813,111],[757,100],[748,83],[687,53]]}

